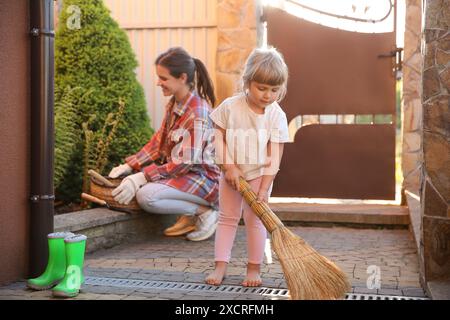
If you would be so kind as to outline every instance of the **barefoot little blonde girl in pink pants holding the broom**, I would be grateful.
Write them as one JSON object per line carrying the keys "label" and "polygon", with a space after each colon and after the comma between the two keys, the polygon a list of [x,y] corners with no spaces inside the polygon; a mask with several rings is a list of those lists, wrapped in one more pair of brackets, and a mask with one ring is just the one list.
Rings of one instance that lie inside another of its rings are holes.
{"label": "barefoot little blonde girl in pink pants holding the broom", "polygon": [[215,270],[206,283],[219,285],[225,276],[231,248],[243,211],[248,264],[243,286],[260,286],[266,229],[238,191],[246,179],[268,202],[278,172],[283,143],[289,141],[286,115],[278,105],[286,94],[288,69],[274,48],[255,49],[242,75],[243,92],[223,101],[210,114],[216,127],[216,159],[222,164],[219,180],[219,223],[215,238]]}

